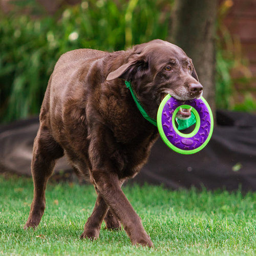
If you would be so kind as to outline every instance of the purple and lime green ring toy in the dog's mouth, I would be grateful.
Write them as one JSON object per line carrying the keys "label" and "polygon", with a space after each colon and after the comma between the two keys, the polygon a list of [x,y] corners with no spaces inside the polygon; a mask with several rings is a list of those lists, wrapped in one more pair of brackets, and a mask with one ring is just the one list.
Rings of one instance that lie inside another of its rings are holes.
{"label": "purple and lime green ring toy in the dog's mouth", "polygon": [[[193,132],[181,133],[175,124],[175,117],[180,108],[191,109],[196,117]],[[164,143],[180,154],[195,154],[209,142],[214,130],[214,118],[207,101],[200,99],[181,101],[169,94],[164,97],[157,112],[157,127]]]}

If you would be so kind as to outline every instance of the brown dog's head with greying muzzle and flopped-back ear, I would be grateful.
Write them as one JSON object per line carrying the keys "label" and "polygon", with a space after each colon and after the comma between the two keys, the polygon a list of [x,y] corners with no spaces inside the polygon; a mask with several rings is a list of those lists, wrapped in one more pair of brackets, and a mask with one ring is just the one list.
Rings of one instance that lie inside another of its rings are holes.
{"label": "brown dog's head with greying muzzle and flopped-back ear", "polygon": [[192,60],[178,46],[159,39],[134,46],[129,60],[106,80],[115,78],[131,81],[146,105],[159,105],[166,94],[190,100],[200,98],[203,92]]}

